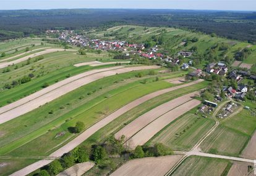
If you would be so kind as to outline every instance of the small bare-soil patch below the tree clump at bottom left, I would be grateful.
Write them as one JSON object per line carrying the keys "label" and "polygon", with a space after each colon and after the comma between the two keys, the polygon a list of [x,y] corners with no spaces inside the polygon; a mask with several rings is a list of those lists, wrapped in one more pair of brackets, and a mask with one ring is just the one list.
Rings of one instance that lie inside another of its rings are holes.
{"label": "small bare-soil patch below the tree clump at bottom left", "polygon": [[64,170],[57,176],[81,176],[85,174],[88,170],[92,169],[95,164],[93,162],[83,162],[75,164],[75,166],[69,167],[69,169]]}

